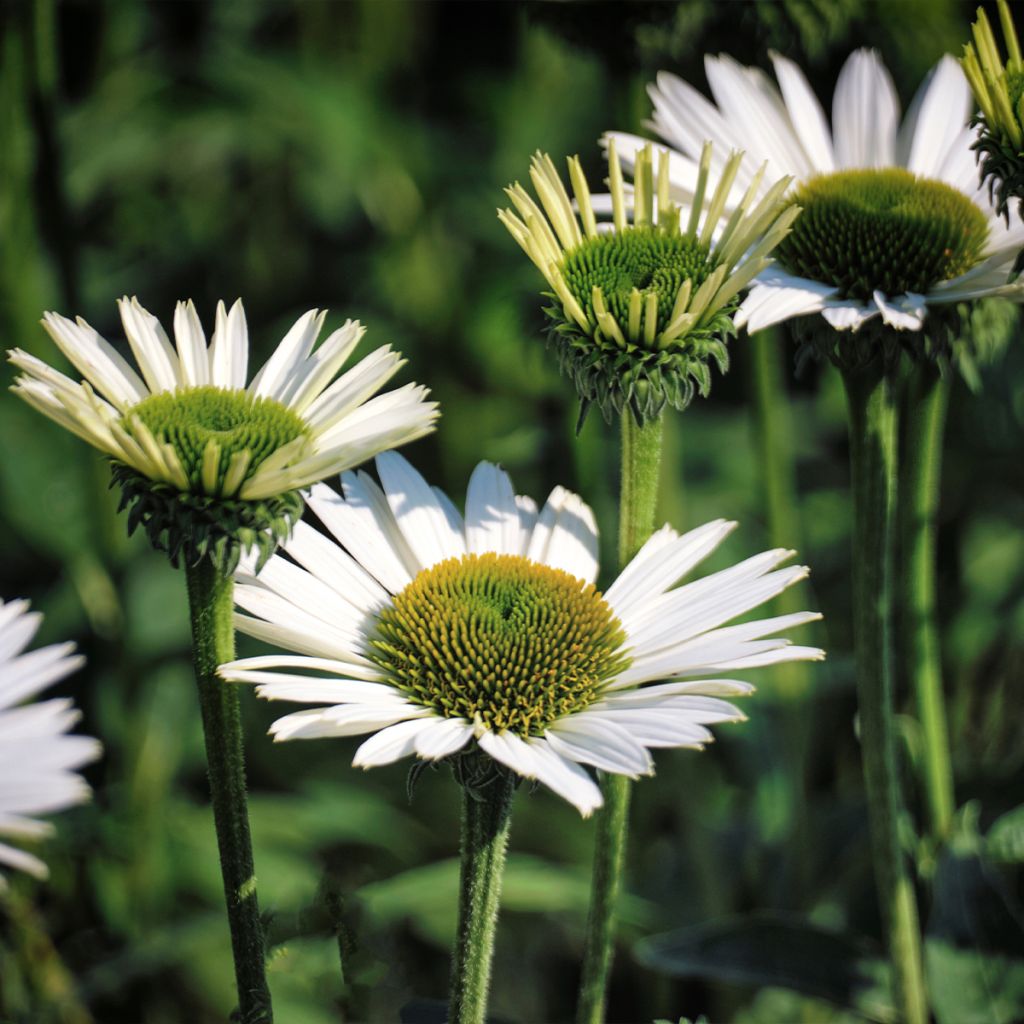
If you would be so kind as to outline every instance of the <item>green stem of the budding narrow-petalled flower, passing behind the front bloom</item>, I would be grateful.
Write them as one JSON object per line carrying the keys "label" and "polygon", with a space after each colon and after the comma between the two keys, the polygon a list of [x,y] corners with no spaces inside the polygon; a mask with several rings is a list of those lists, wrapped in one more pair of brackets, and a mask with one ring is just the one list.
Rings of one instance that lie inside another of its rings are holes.
{"label": "green stem of the budding narrow-petalled flower, passing behind the front bloom", "polygon": [[[638,426],[622,419],[622,483],[618,503],[618,566],[624,568],[654,529],[662,469],[663,422]],[[625,775],[603,775],[604,807],[597,814],[590,912],[584,942],[578,1024],[600,1024],[615,949],[615,911],[623,887],[626,839],[633,783]]]}

